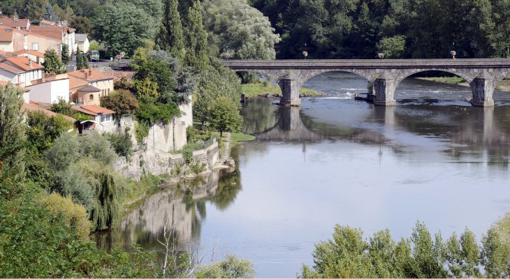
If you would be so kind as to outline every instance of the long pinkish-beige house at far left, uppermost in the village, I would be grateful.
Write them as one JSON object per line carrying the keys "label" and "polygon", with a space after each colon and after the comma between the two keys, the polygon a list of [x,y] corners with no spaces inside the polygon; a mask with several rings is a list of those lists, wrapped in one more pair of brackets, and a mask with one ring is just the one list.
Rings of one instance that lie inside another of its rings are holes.
{"label": "long pinkish-beige house at far left, uppermost in the village", "polygon": [[60,53],[61,41],[31,31],[0,26],[0,50],[4,52],[55,50]]}

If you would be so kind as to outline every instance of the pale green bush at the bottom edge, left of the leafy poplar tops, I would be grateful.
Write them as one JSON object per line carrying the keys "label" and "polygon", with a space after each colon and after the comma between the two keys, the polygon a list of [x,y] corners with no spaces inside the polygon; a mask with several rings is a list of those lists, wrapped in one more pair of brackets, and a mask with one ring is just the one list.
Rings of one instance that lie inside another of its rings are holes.
{"label": "pale green bush at the bottom edge, left of the leafy poplar tops", "polygon": [[253,278],[255,269],[249,260],[227,255],[221,262],[198,266],[194,275],[196,278]]}

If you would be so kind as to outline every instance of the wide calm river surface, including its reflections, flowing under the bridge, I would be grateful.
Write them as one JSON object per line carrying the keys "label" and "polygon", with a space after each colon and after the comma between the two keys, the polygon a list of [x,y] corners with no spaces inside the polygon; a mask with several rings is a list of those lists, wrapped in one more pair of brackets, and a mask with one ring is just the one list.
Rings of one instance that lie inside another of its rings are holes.
{"label": "wide calm river surface, including its reflections, flowing under the bridge", "polygon": [[388,228],[398,240],[419,220],[444,238],[465,227],[480,238],[510,211],[510,93],[472,107],[469,87],[409,78],[396,107],[374,107],[353,99],[367,91],[356,75],[305,86],[326,96],[299,108],[245,104],[245,133],[258,140],[233,149],[233,171],[194,181],[192,195],[147,197],[99,245],[158,250],[168,219],[182,246],[200,243],[203,263],[214,250],[251,259],[256,277],[295,277],[335,224],[366,237]]}

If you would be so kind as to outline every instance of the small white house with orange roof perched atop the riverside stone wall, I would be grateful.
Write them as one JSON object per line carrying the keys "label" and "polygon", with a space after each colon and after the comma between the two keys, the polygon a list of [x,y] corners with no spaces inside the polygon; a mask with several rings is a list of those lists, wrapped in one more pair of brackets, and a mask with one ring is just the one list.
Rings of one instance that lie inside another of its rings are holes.
{"label": "small white house with orange roof perched atop the riverside stone wall", "polygon": [[113,121],[114,111],[100,107],[99,105],[73,105],[73,110],[92,116],[94,119],[81,121],[78,131],[86,133],[87,130],[98,130],[99,132],[112,132],[115,130]]}

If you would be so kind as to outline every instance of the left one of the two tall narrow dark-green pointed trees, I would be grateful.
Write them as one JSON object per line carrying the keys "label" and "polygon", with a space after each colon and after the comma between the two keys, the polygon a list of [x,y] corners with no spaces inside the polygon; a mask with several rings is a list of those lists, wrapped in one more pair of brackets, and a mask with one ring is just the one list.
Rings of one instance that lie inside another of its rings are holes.
{"label": "left one of the two tall narrow dark-green pointed trees", "polygon": [[156,36],[156,45],[177,59],[184,58],[184,40],[182,36],[182,23],[177,0],[166,0],[163,10],[163,20]]}

